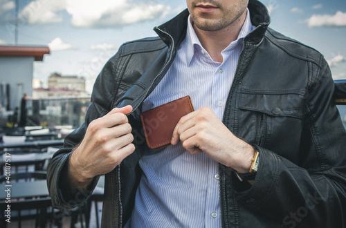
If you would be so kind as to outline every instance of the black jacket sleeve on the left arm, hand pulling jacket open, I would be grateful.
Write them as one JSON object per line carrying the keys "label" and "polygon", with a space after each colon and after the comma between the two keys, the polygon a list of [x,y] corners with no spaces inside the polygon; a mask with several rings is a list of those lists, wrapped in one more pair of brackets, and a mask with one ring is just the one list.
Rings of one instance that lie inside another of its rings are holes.
{"label": "black jacket sleeve on the left arm, hand pulling jacket open", "polygon": [[84,123],[80,128],[66,136],[64,148],[53,155],[48,165],[47,185],[55,208],[71,209],[82,205],[89,198],[98,182],[98,177],[96,177],[90,189],[87,189],[86,192],[80,191],[75,196],[69,196],[69,188],[65,181],[66,171],[71,151],[82,141],[89,123],[107,114],[112,108],[114,99],[116,99],[117,79],[115,73],[120,59],[120,50],[114,57],[109,59],[95,81],[91,103],[86,111]]}

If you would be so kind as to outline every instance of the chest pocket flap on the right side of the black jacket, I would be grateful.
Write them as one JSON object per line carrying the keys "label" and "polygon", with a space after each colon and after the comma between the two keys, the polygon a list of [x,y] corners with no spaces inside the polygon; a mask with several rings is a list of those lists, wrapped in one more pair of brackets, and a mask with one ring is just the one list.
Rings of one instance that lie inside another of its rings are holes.
{"label": "chest pocket flap on the right side of the black jacket", "polygon": [[248,111],[258,111],[273,116],[291,116],[302,118],[304,110],[304,92],[258,93],[246,91],[239,93],[239,108]]}

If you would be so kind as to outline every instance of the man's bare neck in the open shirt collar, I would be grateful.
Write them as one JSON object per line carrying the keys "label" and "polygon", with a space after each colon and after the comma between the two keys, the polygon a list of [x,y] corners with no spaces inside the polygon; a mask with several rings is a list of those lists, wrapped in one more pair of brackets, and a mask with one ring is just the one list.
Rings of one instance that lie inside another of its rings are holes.
{"label": "man's bare neck in the open shirt collar", "polygon": [[220,63],[224,60],[221,52],[238,38],[246,19],[246,12],[247,10],[236,21],[233,21],[233,23],[222,30],[205,31],[193,24],[194,32],[196,32],[199,41],[210,57],[212,57],[212,60]]}

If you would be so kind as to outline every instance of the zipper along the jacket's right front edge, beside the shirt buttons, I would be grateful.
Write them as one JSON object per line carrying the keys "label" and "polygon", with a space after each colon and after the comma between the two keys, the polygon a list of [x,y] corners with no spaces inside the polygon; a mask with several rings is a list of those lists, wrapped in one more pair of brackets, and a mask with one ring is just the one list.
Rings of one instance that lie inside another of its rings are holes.
{"label": "zipper along the jacket's right front edge, beside the shirt buttons", "polygon": [[[252,32],[254,32],[255,30],[259,29],[260,27],[262,27],[261,25],[257,26]],[[251,33],[252,33],[251,32]],[[233,93],[233,91],[235,90],[235,85],[236,84],[239,84],[240,82],[242,82],[242,79],[237,77],[237,75],[239,75],[239,64],[240,64],[240,60],[242,59],[242,56],[244,54],[244,50],[246,49],[246,42],[245,42],[245,39],[243,40],[243,48],[242,48],[242,51],[240,52],[239,54],[239,59],[238,59],[238,63],[237,63],[237,68],[235,70],[235,79],[233,80],[233,83],[232,83],[232,86],[230,86],[230,92],[228,93],[228,99],[226,101],[226,106],[227,104],[229,103],[229,100],[230,100],[230,95]],[[224,113],[225,115],[225,113]],[[224,122],[224,117],[222,117],[222,120]],[[219,168],[220,169],[220,168]],[[220,181],[224,182],[223,181],[224,178],[220,178]],[[222,202],[221,200],[221,194],[222,194],[222,191],[221,191],[221,182],[219,184],[219,193],[220,193],[220,216],[221,216],[221,228],[222,227],[226,227],[225,225],[225,219],[224,219],[224,214],[222,213],[222,211],[224,211],[224,202]]]}

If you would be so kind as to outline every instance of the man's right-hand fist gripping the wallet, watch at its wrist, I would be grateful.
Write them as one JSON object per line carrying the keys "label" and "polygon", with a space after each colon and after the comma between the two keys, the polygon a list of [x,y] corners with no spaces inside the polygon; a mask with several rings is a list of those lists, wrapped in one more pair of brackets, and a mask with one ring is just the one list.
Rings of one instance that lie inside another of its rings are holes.
{"label": "man's right-hand fist gripping the wallet, watch at its wrist", "polygon": [[171,143],[175,145],[179,140],[189,153],[206,153],[239,173],[249,171],[255,155],[253,146],[233,135],[208,107],[181,117]]}

